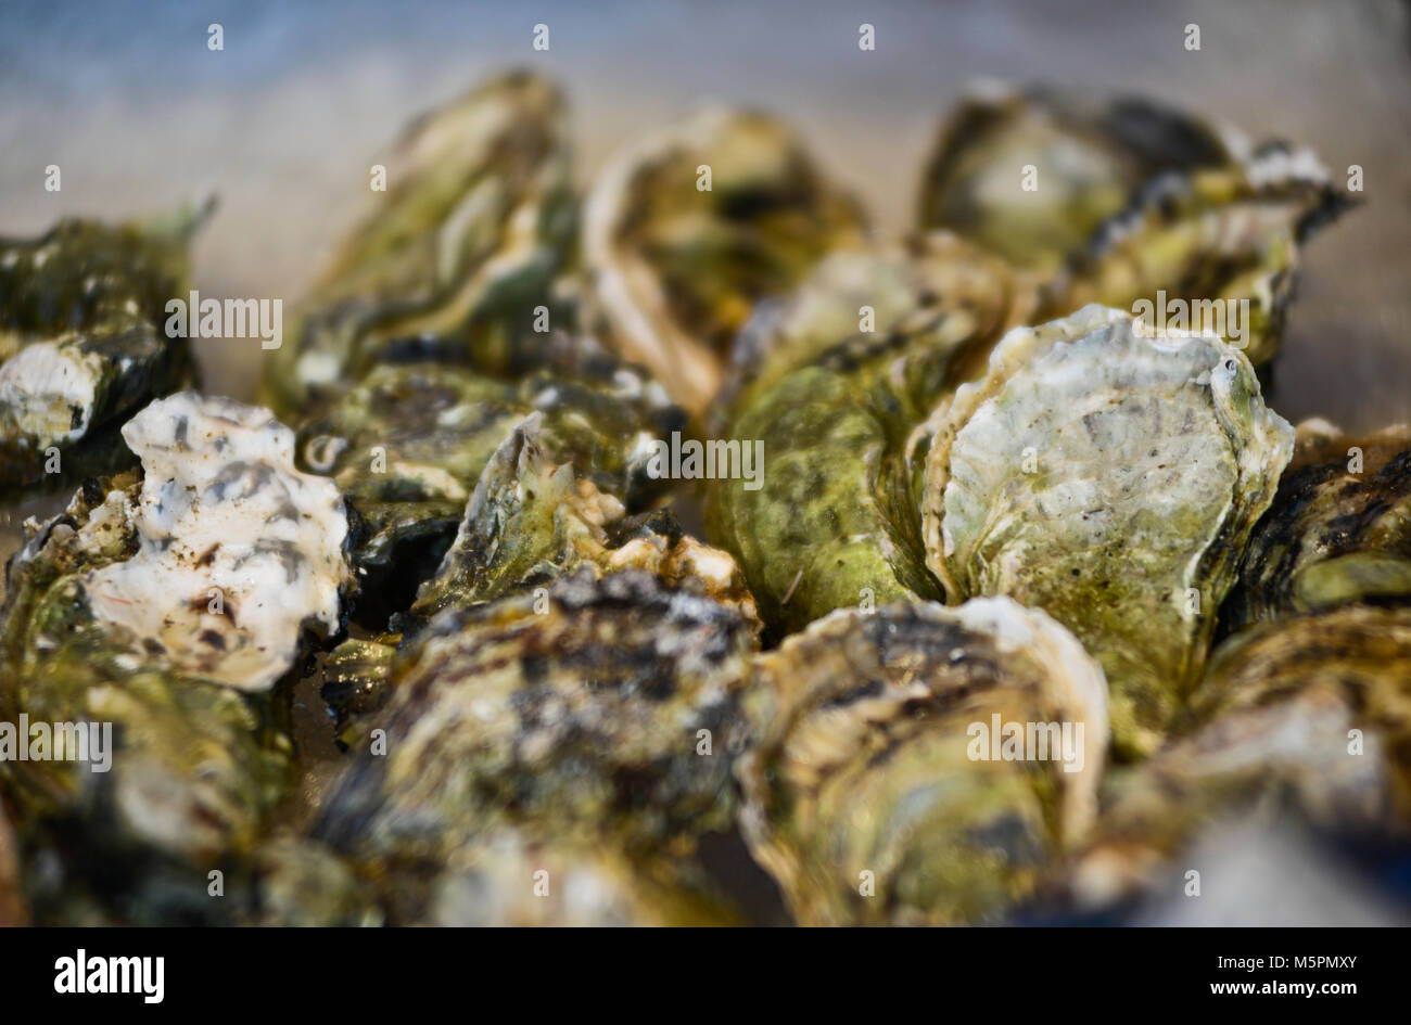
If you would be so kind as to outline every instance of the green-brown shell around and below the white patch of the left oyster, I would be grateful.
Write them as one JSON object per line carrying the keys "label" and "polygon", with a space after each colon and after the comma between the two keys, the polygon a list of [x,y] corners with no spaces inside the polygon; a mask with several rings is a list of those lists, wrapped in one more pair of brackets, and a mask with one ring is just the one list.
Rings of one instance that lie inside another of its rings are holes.
{"label": "green-brown shell around and below the white patch of the left oyster", "polygon": [[[138,551],[137,474],[86,485],[8,567],[0,720],[111,723],[110,770],[0,760],[37,921],[213,921],[206,870],[248,854],[292,781],[286,706],[133,650],[83,578]],[[123,866],[123,871],[114,871]]]}

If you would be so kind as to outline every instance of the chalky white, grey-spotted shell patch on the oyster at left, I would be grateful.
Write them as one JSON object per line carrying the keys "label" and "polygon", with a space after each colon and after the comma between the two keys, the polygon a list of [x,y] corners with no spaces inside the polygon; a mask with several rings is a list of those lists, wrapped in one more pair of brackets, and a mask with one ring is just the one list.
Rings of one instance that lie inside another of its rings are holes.
{"label": "chalky white, grey-spotted shell patch on the oyster at left", "polygon": [[143,460],[127,513],[138,547],[79,579],[95,620],[176,673],[271,688],[308,620],[340,629],[351,585],[343,496],[293,468],[293,431],[258,406],[181,392],[123,437]]}

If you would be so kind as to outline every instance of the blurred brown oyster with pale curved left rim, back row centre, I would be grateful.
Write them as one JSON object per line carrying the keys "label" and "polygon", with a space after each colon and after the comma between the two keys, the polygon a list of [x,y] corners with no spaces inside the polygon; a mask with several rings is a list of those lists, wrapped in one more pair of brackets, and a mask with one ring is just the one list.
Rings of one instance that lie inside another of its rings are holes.
{"label": "blurred brown oyster with pale curved left rim, back row centre", "polygon": [[779,121],[704,110],[622,152],[594,185],[583,216],[594,326],[698,415],[752,305],[861,231],[856,204]]}

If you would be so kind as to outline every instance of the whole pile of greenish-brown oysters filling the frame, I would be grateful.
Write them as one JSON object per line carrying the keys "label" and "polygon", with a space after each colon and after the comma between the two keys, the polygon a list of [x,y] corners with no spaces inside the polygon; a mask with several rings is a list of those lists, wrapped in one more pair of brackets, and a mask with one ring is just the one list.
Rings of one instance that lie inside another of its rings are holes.
{"label": "whole pile of greenish-brown oysters filling the frame", "polygon": [[511,73],[388,182],[261,405],[164,330],[202,213],[0,240],[0,484],[72,493],[0,919],[1081,921],[1228,822],[1407,842],[1411,431],[1261,386],[1308,149],[991,86],[878,240],[756,111],[580,195]]}

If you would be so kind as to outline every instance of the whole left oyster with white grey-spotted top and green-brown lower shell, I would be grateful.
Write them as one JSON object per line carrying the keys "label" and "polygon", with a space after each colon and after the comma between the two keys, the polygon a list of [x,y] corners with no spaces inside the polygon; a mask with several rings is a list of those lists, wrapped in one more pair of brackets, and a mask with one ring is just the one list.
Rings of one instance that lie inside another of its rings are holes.
{"label": "whole left oyster with white grey-spotted top and green-brown lower shell", "polygon": [[[253,850],[291,782],[271,688],[309,627],[337,629],[350,584],[341,499],[293,469],[267,410],[182,392],[124,436],[144,474],[85,484],[8,567],[0,720],[110,737],[96,771],[92,746],[87,763],[0,760],[27,843],[63,853],[37,916],[89,887],[120,919],[217,914],[206,869]],[[148,874],[113,895],[106,857]]]}

